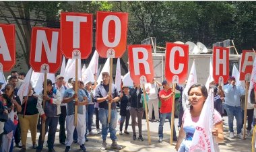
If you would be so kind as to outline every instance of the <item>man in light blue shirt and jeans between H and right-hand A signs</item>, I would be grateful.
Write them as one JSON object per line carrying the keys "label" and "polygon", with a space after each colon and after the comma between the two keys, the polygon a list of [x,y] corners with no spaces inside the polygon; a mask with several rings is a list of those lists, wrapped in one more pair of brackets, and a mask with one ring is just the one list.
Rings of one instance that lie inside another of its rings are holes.
{"label": "man in light blue shirt and jeans between H and right-hand A signs", "polygon": [[243,139],[242,135],[242,110],[240,97],[245,95],[245,89],[241,86],[236,86],[236,79],[230,77],[228,84],[224,85],[225,94],[225,109],[228,114],[228,130],[230,139],[234,138],[233,121],[236,117],[237,137]]}

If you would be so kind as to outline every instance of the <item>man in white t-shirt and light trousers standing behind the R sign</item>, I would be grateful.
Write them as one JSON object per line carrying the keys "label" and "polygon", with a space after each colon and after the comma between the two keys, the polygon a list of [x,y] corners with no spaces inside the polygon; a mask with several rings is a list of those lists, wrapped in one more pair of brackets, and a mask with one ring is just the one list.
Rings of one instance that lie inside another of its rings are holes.
{"label": "man in white t-shirt and light trousers standing behind the R sign", "polygon": [[158,88],[162,87],[162,84],[154,78],[150,83],[146,84],[146,91],[148,93],[148,118],[152,121],[152,112],[154,108],[155,119],[159,122],[158,112]]}

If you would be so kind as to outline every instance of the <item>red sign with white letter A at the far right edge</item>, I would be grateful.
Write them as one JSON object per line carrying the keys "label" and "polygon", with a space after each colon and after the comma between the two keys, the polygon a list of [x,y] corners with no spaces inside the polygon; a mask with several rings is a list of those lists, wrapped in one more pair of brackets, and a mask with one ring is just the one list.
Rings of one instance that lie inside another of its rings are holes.
{"label": "red sign with white letter A at the far right edge", "polygon": [[249,81],[251,78],[251,71],[253,71],[253,60],[255,59],[255,52],[253,50],[243,50],[241,56],[241,67],[239,80]]}

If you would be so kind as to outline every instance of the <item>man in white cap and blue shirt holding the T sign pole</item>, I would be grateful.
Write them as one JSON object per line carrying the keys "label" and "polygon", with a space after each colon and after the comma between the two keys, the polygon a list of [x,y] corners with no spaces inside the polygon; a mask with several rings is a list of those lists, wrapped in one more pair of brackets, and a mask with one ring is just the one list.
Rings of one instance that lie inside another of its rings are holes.
{"label": "man in white cap and blue shirt holding the T sign pole", "polygon": [[[77,79],[77,87],[79,88],[81,79]],[[67,117],[66,117],[66,130],[67,130],[67,139],[65,142],[66,149],[65,152],[70,151],[70,146],[73,142],[73,132],[76,128],[78,135],[78,144],[82,151],[86,151],[84,146],[86,133],[86,120],[84,118],[84,106],[88,104],[88,97],[82,89],[78,89],[77,94],[75,93],[75,78],[72,79],[73,88],[65,90],[63,96],[63,103],[67,103]],[[78,98],[77,102],[77,126],[74,126],[74,117],[75,117],[75,98]]]}

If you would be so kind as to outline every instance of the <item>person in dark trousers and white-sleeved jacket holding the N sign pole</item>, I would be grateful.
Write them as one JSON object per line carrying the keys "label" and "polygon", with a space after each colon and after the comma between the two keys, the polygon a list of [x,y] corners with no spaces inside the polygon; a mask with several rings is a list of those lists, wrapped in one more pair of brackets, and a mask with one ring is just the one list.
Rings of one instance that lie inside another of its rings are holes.
{"label": "person in dark trousers and white-sleeved jacket holding the N sign pole", "polygon": [[[44,84],[43,84],[44,85]],[[43,86],[44,88],[44,86]],[[38,96],[38,102],[36,108],[41,116],[42,122],[45,122],[45,134],[48,132],[48,149],[49,152],[54,152],[53,144],[55,142],[55,133],[57,130],[59,114],[61,114],[61,93],[58,89],[53,87],[53,83],[50,79],[46,80],[46,93],[44,96],[44,90]],[[42,108],[42,101],[45,101],[45,106]],[[42,151],[44,141],[42,141],[42,123],[40,124],[40,136],[38,139],[38,147],[36,152]]]}

